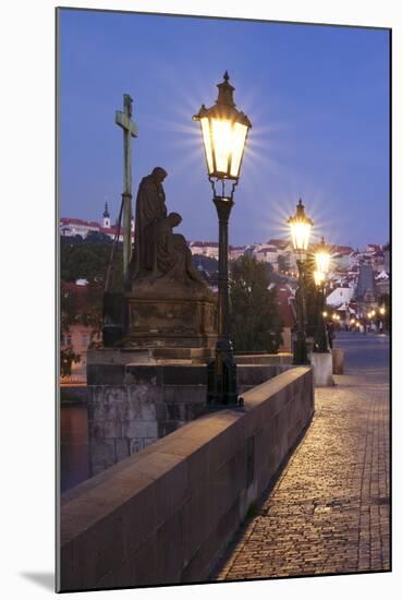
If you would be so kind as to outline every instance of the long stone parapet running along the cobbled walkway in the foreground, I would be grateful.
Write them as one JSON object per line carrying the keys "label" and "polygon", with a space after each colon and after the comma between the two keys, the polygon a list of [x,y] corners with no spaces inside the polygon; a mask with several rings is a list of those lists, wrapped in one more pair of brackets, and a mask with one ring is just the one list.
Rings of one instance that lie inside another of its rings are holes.
{"label": "long stone parapet running along the cobbled walkway in the foreground", "polygon": [[63,494],[59,590],[208,578],[313,417],[312,370],[243,397]]}

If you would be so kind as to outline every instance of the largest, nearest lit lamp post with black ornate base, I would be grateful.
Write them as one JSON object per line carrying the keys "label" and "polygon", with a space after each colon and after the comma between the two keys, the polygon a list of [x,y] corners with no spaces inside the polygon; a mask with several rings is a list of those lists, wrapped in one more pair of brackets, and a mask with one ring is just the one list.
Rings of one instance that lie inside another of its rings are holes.
{"label": "largest, nearest lit lamp post with black ornate base", "polygon": [[[244,112],[235,108],[234,87],[229,83],[228,71],[217,87],[219,92],[215,105],[210,108],[203,105],[193,120],[200,123],[208,179],[219,220],[218,341],[215,360],[208,365],[207,392],[207,404],[219,408],[237,405],[236,365],[230,339],[228,224],[252,123]],[[227,182],[231,184],[230,192],[226,190]],[[217,184],[220,184],[220,193],[217,192]]]}

